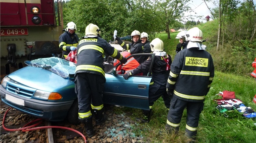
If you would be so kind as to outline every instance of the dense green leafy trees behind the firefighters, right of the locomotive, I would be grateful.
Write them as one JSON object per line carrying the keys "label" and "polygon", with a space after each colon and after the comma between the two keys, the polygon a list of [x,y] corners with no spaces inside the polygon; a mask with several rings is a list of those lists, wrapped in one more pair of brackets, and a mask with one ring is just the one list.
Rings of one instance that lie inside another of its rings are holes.
{"label": "dense green leafy trees behind the firefighters, right of the locomotive", "polygon": [[160,31],[160,19],[151,5],[150,0],[70,0],[63,6],[63,15],[64,21],[76,23],[80,37],[89,23],[98,25],[106,40],[113,40],[114,30],[119,37],[135,29],[153,37]]}

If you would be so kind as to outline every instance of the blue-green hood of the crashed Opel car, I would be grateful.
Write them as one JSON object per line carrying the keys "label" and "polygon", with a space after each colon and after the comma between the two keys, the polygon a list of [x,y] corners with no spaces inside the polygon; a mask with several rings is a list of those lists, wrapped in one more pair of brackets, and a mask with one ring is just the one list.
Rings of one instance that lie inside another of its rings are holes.
{"label": "blue-green hood of the crashed Opel car", "polygon": [[[60,72],[57,72],[61,71],[60,69],[49,70],[49,68],[37,67],[35,65],[37,64],[34,64],[33,66],[23,67],[22,69],[19,69],[9,74],[8,77],[18,82],[19,84],[24,84],[31,88],[40,89],[44,91],[54,92],[58,91],[60,88],[74,88],[74,80],[71,80],[68,77],[62,77],[63,75],[68,75],[67,72],[65,74],[60,74]],[[62,64],[58,66],[64,68],[61,65]],[[71,70],[70,72],[74,74],[75,67],[73,67],[73,70]]]}

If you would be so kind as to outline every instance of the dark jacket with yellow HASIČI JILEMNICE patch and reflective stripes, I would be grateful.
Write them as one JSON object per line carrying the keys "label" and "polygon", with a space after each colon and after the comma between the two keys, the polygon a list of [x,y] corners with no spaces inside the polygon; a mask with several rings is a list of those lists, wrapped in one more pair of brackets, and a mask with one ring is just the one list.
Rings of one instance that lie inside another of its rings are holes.
{"label": "dark jacket with yellow HASI\u010cI JILEMNICE patch and reflective stripes", "polygon": [[203,102],[213,82],[214,65],[211,55],[198,48],[178,52],[171,64],[166,87],[178,99]]}

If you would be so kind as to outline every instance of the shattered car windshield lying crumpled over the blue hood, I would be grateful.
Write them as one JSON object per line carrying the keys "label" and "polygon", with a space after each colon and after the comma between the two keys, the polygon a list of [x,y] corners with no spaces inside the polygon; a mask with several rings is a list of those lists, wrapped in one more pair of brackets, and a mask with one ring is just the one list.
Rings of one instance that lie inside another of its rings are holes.
{"label": "shattered car windshield lying crumpled over the blue hood", "polygon": [[63,78],[69,77],[69,74],[74,75],[76,70],[75,63],[57,57],[39,58],[25,61],[25,63],[31,67],[41,67],[43,69],[47,69]]}

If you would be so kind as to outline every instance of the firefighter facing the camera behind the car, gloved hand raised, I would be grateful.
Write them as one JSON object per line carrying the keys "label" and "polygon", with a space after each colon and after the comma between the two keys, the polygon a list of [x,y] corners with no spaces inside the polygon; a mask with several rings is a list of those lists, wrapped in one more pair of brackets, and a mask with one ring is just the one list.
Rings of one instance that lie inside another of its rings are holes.
{"label": "firefighter facing the camera behind the car, gloved hand raised", "polygon": [[[137,53],[143,53],[143,45],[141,43],[141,33],[137,30],[134,30],[131,34],[132,36],[132,42],[129,44],[125,44],[118,36],[116,36],[115,40],[117,40],[117,43],[124,48],[124,50],[127,50],[131,54],[137,54]],[[143,63],[143,57],[136,57],[135,58],[140,64]]]}

